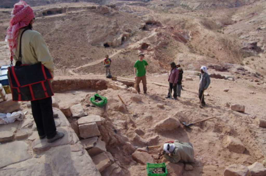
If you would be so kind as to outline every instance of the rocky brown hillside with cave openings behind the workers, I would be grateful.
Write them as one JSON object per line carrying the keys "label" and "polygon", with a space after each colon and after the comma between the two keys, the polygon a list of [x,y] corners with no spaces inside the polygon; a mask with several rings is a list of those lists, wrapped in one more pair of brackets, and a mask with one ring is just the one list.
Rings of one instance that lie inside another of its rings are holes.
{"label": "rocky brown hillside with cave openings behind the workers", "polygon": [[[44,36],[58,74],[69,74],[69,69],[102,73],[101,59],[109,54],[115,74],[130,75],[132,69],[127,68],[138,53],[146,54],[151,73],[164,72],[174,60],[189,70],[207,63],[231,63],[264,74],[265,2],[217,1],[213,6],[210,2],[50,4],[34,7],[34,29]],[[0,12],[1,40],[10,10]]]}

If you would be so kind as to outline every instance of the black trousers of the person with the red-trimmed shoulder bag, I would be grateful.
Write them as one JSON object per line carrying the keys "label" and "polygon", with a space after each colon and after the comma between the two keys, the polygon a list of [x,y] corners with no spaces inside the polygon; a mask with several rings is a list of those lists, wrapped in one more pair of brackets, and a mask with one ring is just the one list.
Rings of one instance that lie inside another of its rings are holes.
{"label": "black trousers of the person with the red-trimmed shoulder bag", "polygon": [[52,97],[31,101],[31,111],[39,136],[53,138],[56,135],[56,126],[53,119]]}

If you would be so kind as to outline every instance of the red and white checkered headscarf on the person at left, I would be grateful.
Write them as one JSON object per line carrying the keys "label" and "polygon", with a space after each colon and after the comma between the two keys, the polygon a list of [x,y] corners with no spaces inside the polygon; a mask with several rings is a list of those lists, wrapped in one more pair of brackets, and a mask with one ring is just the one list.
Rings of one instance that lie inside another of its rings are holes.
{"label": "red and white checkered headscarf on the person at left", "polygon": [[19,1],[14,4],[5,39],[10,50],[11,60],[16,52],[19,29],[28,26],[33,18],[33,10],[26,2]]}

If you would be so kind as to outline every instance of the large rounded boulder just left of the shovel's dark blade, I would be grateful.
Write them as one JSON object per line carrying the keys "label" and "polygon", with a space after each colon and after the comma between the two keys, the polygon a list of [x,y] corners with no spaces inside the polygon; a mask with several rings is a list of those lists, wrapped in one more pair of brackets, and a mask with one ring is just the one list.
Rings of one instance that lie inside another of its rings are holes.
{"label": "large rounded boulder just left of the shovel's dark blade", "polygon": [[172,131],[173,129],[180,126],[178,119],[173,117],[168,117],[164,120],[159,121],[155,124],[156,131]]}

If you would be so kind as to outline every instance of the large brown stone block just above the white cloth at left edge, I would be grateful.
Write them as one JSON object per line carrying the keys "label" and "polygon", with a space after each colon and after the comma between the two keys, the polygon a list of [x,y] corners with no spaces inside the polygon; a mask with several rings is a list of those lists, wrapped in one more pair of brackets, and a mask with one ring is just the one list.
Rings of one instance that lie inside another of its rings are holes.
{"label": "large brown stone block just above the white cloth at left edge", "polygon": [[7,94],[7,100],[0,102],[0,112],[1,113],[12,113],[14,111],[17,111],[20,108],[20,103],[19,102],[14,102],[12,100],[12,95]]}

